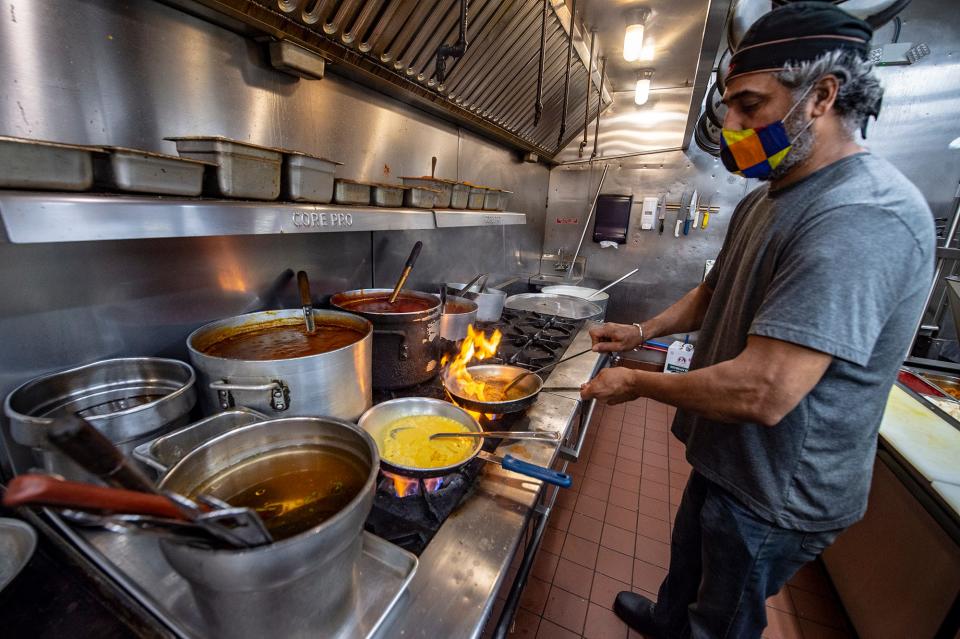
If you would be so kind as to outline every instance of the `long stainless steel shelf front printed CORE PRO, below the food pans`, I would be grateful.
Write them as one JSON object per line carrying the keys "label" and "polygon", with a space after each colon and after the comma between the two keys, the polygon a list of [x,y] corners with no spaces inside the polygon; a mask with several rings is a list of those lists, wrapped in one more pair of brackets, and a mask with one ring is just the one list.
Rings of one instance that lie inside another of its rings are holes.
{"label": "long stainless steel shelf front printed CORE PRO, below the food pans", "polygon": [[526,223],[522,213],[28,191],[0,191],[0,218],[16,244]]}

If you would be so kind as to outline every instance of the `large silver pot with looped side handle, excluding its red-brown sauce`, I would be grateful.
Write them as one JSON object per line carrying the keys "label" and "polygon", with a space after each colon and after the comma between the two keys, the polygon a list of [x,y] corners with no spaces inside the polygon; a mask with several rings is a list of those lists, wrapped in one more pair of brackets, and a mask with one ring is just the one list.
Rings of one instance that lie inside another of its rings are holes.
{"label": "large silver pot with looped side handle, excluding its red-brown sauce", "polygon": [[260,325],[302,322],[303,311],[248,313],[211,322],[187,338],[206,413],[247,406],[269,417],[329,415],[355,420],[373,404],[373,326],[362,317],[314,309],[317,325],[354,328],[363,338],[343,348],[303,357],[241,360],[213,357],[203,349],[227,335]]}

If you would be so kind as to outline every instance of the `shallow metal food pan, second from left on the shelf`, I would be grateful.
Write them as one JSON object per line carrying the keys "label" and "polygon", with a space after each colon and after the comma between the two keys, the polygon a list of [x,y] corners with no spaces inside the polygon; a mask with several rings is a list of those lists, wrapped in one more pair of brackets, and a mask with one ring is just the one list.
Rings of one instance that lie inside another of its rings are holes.
{"label": "shallow metal food pan, second from left on the shelf", "polygon": [[216,167],[205,160],[119,146],[105,147],[104,152],[93,154],[97,186],[133,193],[196,197],[203,191],[204,171]]}

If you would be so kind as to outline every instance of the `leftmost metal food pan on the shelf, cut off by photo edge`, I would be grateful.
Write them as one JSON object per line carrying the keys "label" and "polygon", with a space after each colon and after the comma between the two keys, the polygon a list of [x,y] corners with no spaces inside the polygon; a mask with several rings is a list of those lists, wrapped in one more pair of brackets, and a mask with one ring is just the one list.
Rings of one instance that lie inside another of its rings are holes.
{"label": "leftmost metal food pan on the shelf, cut off by photo edge", "polygon": [[0,188],[86,191],[93,186],[94,146],[0,136]]}

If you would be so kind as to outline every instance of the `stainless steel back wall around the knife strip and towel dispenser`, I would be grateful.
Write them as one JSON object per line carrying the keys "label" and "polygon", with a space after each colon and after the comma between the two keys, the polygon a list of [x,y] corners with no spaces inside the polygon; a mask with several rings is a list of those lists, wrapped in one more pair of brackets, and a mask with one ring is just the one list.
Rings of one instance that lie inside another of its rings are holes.
{"label": "stainless steel back wall around the knife strip and towel dispenser", "polygon": [[[604,284],[639,267],[636,275],[611,289],[607,307],[608,320],[637,322],[663,310],[700,282],[704,262],[720,251],[730,213],[746,193],[747,180],[731,175],[719,160],[694,145],[687,151],[612,160],[609,167],[601,192],[633,195],[631,231],[626,244],[601,248],[593,241],[590,222],[581,250],[587,258],[585,285]],[[563,248],[570,255],[576,250],[602,171],[603,163],[595,162],[551,172],[544,252]],[[639,229],[639,201],[644,197],[665,195],[670,204],[687,204],[694,189],[702,205],[709,201],[720,207],[706,229],[691,229],[689,235],[681,232],[676,238],[677,216],[686,211],[667,211],[662,235],[658,223],[653,230],[633,230],[634,221]]]}

